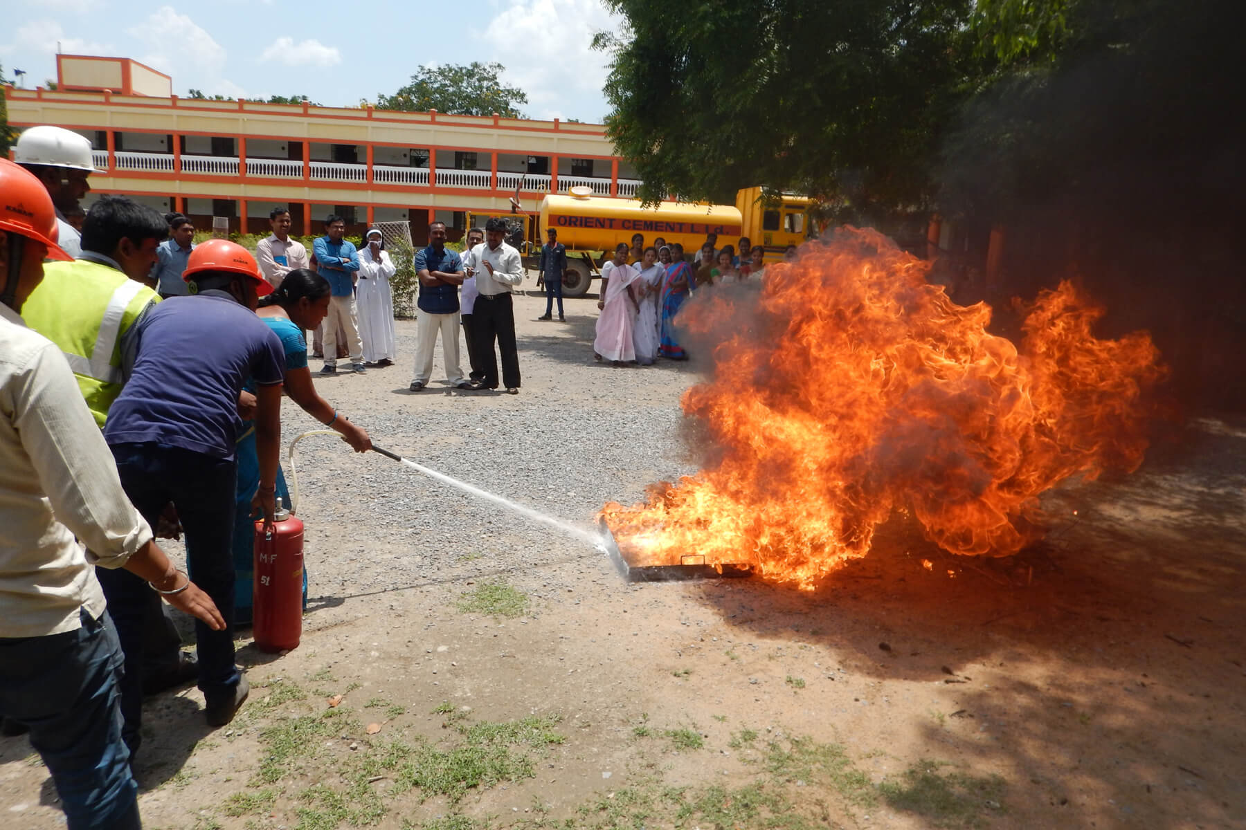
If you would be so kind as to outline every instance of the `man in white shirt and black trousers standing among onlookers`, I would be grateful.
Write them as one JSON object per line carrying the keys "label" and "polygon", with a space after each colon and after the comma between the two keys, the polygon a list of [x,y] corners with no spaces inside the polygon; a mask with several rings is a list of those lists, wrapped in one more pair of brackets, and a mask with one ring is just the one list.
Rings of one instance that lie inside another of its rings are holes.
{"label": "man in white shirt and black trousers standing among onlookers", "polygon": [[520,352],[515,346],[515,310],[511,291],[523,281],[520,251],[506,244],[506,220],[493,218],[485,223],[485,241],[471,250],[467,276],[476,276],[476,305],[472,329],[476,360],[483,377],[476,388],[497,388],[497,351],[502,353],[502,383],[507,394],[520,393]]}

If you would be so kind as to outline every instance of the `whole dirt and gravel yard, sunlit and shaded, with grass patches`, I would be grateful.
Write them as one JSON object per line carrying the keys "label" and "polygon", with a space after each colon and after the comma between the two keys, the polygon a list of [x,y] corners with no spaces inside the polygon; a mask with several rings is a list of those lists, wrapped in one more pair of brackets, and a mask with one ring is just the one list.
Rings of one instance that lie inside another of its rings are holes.
{"label": "whole dirt and gravel yard, sunlit and shaded, with grass patches", "polygon": [[[609,413],[672,433],[695,375],[594,365],[596,302],[568,306],[538,322],[517,300],[517,397],[405,393],[410,322],[399,366],[319,387],[386,448],[588,526],[685,470]],[[549,433],[525,424],[549,419],[579,460],[541,478]],[[486,424],[507,429],[491,465]],[[193,687],[150,699],[147,828],[1246,826],[1242,419],[1191,418],[1139,473],[1053,494],[1017,557],[951,557],[897,520],[812,592],[625,584],[573,538],[319,441],[303,642],[240,635],[228,728]],[[0,806],[64,826],[25,738],[0,739]]]}

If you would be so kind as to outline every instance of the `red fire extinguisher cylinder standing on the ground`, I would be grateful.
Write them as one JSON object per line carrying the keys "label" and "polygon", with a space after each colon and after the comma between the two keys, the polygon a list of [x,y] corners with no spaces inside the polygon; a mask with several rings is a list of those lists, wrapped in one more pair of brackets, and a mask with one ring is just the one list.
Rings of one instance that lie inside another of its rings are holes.
{"label": "red fire extinguisher cylinder standing on the ground", "polygon": [[277,499],[273,530],[255,523],[252,633],[260,651],[298,648],[303,635],[303,521]]}

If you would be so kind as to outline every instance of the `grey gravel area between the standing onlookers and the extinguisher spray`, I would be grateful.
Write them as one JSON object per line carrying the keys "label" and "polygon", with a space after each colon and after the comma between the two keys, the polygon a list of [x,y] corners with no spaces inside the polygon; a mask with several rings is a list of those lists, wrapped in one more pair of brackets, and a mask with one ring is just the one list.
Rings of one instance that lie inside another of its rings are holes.
{"label": "grey gravel area between the standing onlookers and the extinguisher spray", "polygon": [[[568,322],[543,322],[541,297],[516,297],[518,396],[445,386],[440,343],[430,387],[409,392],[415,324],[406,321],[397,324],[396,366],[316,377],[316,388],[378,445],[591,528],[603,503],[639,499],[649,482],[692,472],[680,460],[678,397],[695,376],[687,363],[597,363],[596,299],[567,305]],[[285,402],[284,443],[316,427]],[[297,463],[312,597],[461,574],[462,560],[476,555],[487,561],[475,569],[490,571],[594,555],[574,536],[381,455],[354,455],[333,437],[300,442]],[[349,529],[343,543],[330,543],[341,528]]]}

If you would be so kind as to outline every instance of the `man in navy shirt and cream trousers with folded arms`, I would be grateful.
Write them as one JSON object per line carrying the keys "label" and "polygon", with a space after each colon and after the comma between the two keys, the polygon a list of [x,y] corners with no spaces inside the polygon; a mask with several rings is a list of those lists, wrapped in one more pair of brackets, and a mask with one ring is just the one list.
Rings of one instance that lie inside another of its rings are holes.
{"label": "man in navy shirt and cream trousers with folded arms", "polygon": [[429,246],[415,255],[420,276],[420,296],[415,302],[415,378],[411,391],[419,392],[432,377],[432,348],[441,332],[441,352],[446,362],[446,381],[460,389],[475,388],[464,380],[459,365],[459,286],[464,266],[459,254],[446,248],[446,223],[429,225]]}

